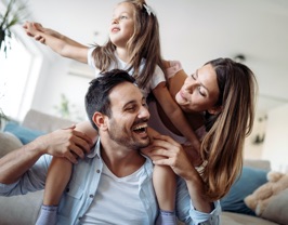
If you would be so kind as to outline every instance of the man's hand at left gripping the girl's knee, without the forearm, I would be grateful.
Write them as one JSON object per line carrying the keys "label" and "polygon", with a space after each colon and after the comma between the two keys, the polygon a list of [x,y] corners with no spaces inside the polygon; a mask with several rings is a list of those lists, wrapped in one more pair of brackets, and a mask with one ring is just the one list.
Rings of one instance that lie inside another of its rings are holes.
{"label": "man's hand at left gripping the girl's knee, without the forearm", "polygon": [[73,163],[77,163],[78,157],[82,159],[93,145],[90,137],[75,130],[75,125],[39,136],[35,143],[44,154],[65,157]]}

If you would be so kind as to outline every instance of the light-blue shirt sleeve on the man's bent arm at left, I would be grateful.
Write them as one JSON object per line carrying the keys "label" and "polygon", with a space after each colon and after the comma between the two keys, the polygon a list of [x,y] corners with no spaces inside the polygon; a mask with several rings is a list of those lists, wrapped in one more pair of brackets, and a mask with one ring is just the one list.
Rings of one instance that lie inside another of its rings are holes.
{"label": "light-blue shirt sleeve on the man's bent arm at left", "polygon": [[51,156],[44,155],[17,182],[13,184],[0,183],[0,196],[25,195],[43,189],[51,159]]}

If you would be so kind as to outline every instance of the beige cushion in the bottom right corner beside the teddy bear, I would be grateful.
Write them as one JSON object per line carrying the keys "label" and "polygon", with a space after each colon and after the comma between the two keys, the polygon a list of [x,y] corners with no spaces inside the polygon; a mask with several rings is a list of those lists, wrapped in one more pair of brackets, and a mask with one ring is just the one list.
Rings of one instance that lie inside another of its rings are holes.
{"label": "beige cushion in the bottom right corner beside the teddy bear", "polygon": [[288,224],[288,189],[271,199],[267,208],[263,211],[262,217],[279,224]]}

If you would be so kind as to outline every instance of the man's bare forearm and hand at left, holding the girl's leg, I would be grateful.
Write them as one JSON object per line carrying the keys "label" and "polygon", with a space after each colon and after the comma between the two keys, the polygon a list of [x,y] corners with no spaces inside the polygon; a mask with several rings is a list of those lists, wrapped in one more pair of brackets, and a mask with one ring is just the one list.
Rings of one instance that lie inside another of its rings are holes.
{"label": "man's bare forearm and hand at left, holding the girl's leg", "polygon": [[74,128],[42,135],[0,159],[0,183],[15,183],[44,154],[65,157],[76,163],[77,158],[83,158],[91,146],[91,140]]}

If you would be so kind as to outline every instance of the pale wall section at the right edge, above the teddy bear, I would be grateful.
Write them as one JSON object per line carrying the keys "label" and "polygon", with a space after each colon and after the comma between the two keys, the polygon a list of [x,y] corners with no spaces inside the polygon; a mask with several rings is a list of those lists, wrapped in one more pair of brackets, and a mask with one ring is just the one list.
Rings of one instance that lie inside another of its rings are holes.
{"label": "pale wall section at the right edge, above the teddy bear", "polygon": [[288,172],[288,104],[267,112],[267,127],[262,158],[272,169]]}

